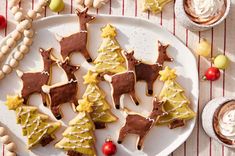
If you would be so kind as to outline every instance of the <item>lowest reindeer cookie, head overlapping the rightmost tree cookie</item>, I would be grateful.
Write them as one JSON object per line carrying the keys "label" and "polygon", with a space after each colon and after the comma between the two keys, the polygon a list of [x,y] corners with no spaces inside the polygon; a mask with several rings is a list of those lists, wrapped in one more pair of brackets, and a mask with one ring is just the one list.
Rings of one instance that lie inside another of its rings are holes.
{"label": "lowest reindeer cookie, head overlapping the rightmost tree cookie", "polygon": [[153,99],[153,110],[148,117],[143,117],[138,114],[128,114],[126,123],[120,130],[118,143],[121,144],[127,134],[136,134],[139,136],[137,149],[141,150],[145,136],[155,126],[159,117],[165,113],[163,103],[155,97]]}

